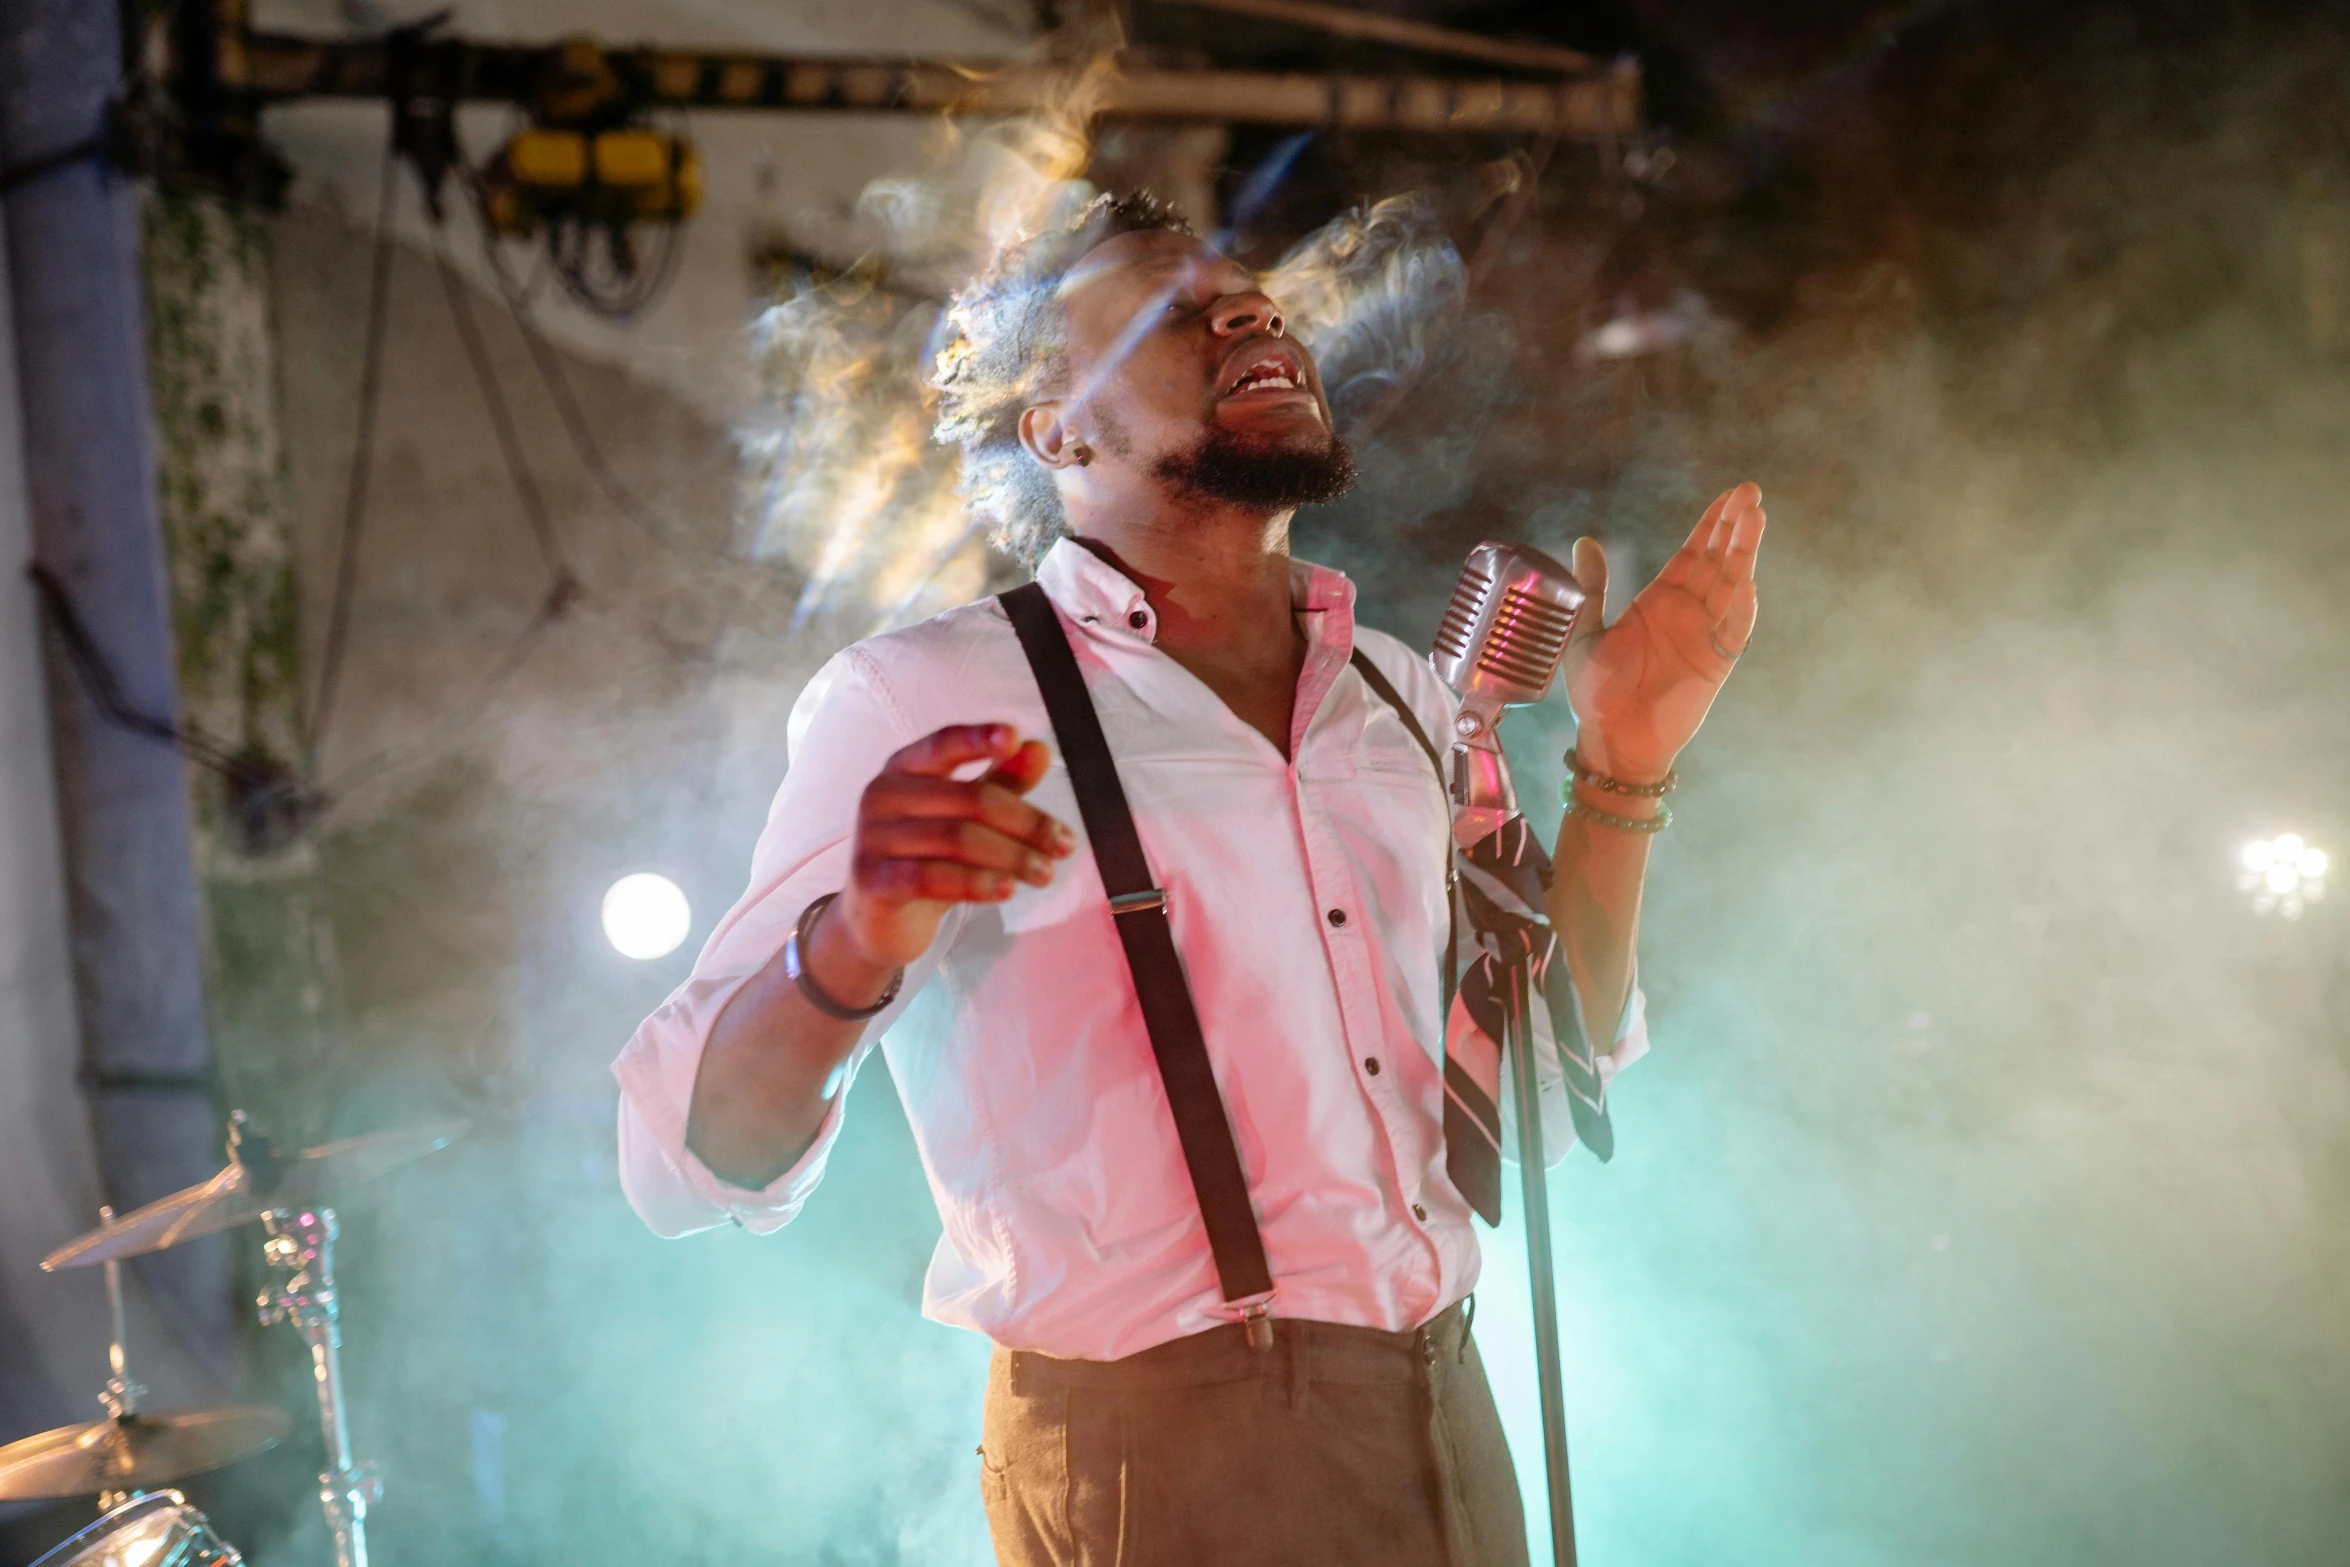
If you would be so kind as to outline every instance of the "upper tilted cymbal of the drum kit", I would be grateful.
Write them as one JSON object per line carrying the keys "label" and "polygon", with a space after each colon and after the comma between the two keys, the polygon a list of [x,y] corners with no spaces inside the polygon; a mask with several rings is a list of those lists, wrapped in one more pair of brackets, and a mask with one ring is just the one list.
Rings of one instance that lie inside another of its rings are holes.
{"label": "upper tilted cymbal of the drum kit", "polygon": [[181,1240],[212,1236],[237,1224],[251,1224],[280,1208],[315,1208],[350,1186],[423,1158],[470,1130],[470,1121],[432,1121],[367,1137],[345,1137],[291,1158],[230,1163],[209,1182],[197,1182],[136,1212],[101,1224],[40,1259],[42,1271],[87,1269],[94,1262],[118,1262],[160,1252]]}

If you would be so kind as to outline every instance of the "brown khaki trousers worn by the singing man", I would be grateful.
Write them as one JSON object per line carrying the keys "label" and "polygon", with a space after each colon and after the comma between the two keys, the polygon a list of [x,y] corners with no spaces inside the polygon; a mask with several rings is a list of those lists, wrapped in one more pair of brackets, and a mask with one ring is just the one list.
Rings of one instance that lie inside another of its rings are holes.
{"label": "brown khaki trousers worn by the singing man", "polygon": [[980,1487],[1003,1567],[1525,1567],[1455,1306],[1415,1332],[1274,1320],[1126,1360],[999,1349]]}

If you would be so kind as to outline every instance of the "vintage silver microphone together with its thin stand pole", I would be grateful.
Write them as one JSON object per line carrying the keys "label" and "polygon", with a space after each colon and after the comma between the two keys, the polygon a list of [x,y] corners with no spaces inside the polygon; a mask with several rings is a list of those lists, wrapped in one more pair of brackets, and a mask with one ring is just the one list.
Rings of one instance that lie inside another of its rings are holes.
{"label": "vintage silver microphone together with its thin stand pole", "polygon": [[[1452,731],[1452,836],[1478,843],[1518,813],[1502,756],[1502,712],[1551,693],[1584,590],[1542,550],[1483,543],[1436,627],[1429,663],[1462,695]],[[1518,1102],[1518,1193],[1525,1208],[1525,1273],[1535,1292],[1535,1379],[1542,1388],[1542,1457],[1551,1489],[1551,1562],[1574,1567],[1574,1494],[1567,1485],[1567,1395],[1558,1353],[1558,1278],[1551,1262],[1551,1196],[1544,1182],[1539,1071],[1532,1052],[1535,991],[1516,968],[1502,1020],[1502,1055]]]}

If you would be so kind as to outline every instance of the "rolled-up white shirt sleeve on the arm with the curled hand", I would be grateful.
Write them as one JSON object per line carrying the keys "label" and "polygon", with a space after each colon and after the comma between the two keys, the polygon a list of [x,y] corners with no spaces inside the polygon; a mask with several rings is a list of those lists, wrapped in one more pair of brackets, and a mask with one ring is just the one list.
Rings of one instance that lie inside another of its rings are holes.
{"label": "rolled-up white shirt sleeve on the arm with the curled hand", "polygon": [[865,1024],[832,1083],[815,1139],[773,1182],[733,1186],[686,1146],[710,1029],[736,991],[783,951],[801,912],[844,886],[858,799],[912,740],[905,712],[862,648],[815,672],[792,705],[787,738],[790,766],[752,853],[750,886],[710,933],[686,982],[637,1027],[611,1067],[620,1081],[620,1189],[658,1236],[691,1236],[728,1222],[759,1233],[790,1224],[825,1175],[858,1067],[935,973],[935,959],[909,968],[891,1008]]}

